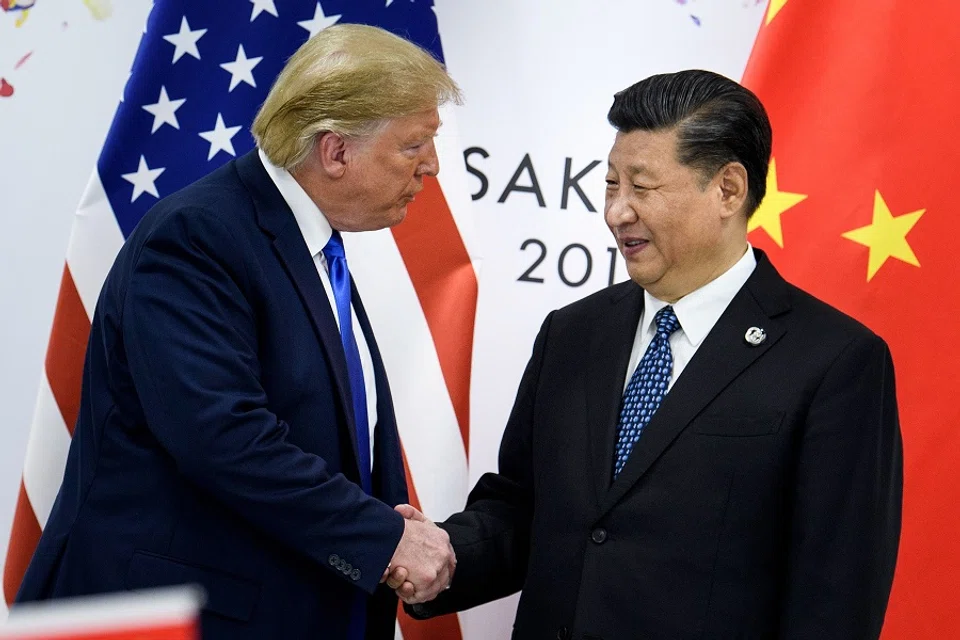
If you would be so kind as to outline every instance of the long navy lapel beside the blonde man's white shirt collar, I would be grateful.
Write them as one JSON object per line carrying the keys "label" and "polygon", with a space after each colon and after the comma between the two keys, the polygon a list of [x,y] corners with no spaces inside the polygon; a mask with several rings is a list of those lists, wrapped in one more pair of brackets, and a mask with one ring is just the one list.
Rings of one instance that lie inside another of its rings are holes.
{"label": "long navy lapel beside the blonde man's white shirt collar", "polygon": [[260,228],[273,238],[274,250],[307,309],[320,345],[330,363],[336,394],[340,399],[353,448],[357,478],[359,478],[360,457],[347,361],[343,354],[343,343],[340,341],[340,330],[337,328],[337,321],[326,291],[323,289],[323,283],[320,282],[313,256],[307,249],[293,212],[260,163],[257,150],[254,149],[239,158],[236,161],[236,167],[257,209]]}

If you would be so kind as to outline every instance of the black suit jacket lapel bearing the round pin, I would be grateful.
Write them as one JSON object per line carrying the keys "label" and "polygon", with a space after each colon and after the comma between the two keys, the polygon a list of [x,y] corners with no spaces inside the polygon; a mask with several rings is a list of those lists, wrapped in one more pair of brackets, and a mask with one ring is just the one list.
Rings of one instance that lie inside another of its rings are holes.
{"label": "black suit jacket lapel bearing the round pin", "polygon": [[[762,252],[756,251],[756,254],[754,273],[734,296],[644,428],[626,466],[602,500],[602,513],[623,498],[727,385],[783,337],[785,323],[776,316],[789,310],[786,283]],[[745,340],[744,334],[750,327],[766,331],[766,339],[760,345],[753,346]],[[612,456],[613,445],[609,450]]]}

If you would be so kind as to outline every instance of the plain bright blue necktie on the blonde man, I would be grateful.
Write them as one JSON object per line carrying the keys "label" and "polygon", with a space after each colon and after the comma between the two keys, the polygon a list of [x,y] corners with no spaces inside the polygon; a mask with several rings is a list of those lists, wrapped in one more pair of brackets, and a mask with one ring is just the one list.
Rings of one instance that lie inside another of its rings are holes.
{"label": "plain bright blue necktie on the blonde man", "polygon": [[360,349],[353,334],[353,315],[350,312],[350,271],[347,270],[347,254],[343,250],[340,232],[334,231],[323,248],[330,272],[333,298],[337,302],[340,318],[340,341],[347,360],[350,375],[350,397],[353,398],[353,417],[357,428],[357,452],[360,454],[360,483],[368,494],[372,491],[370,477],[370,428],[367,424],[367,389],[363,383],[363,367],[360,365]]}

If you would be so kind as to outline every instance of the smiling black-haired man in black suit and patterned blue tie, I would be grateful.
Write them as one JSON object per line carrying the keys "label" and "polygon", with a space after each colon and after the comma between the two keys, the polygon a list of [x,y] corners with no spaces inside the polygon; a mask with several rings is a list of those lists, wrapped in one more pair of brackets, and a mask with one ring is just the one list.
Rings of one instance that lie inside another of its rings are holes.
{"label": "smiling black-haired man in black suit and patterned blue tie", "polygon": [[389,584],[417,617],[522,589],[521,640],[876,638],[903,483],[887,345],[748,244],[771,150],[750,91],[653,76],[609,120],[630,281],[547,316],[499,472],[440,525],[451,588]]}

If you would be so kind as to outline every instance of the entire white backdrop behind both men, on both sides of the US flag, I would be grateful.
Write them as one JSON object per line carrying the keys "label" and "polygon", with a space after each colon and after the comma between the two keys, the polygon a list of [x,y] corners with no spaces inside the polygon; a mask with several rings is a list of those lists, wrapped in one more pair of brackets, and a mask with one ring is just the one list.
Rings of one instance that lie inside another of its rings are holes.
{"label": "entire white backdrop behind both men, on both sides of the US flag", "polygon": [[[613,138],[605,116],[613,93],[651,73],[690,67],[739,78],[766,2],[435,4],[448,67],[467,97],[456,117],[469,171],[457,154],[444,158],[443,171],[463,172],[476,198],[473,244],[483,256],[477,265],[472,486],[496,465],[500,434],[543,317],[610,278],[613,243],[601,212]],[[81,0],[41,0],[20,28],[14,14],[0,13],[0,78],[15,88],[13,96],[0,98],[0,561],[73,212],[149,5],[117,2],[113,15],[98,21]],[[28,51],[31,57],[15,69]],[[615,266],[614,277],[622,280],[622,265]],[[527,281],[519,281],[524,273]],[[468,612],[465,638],[509,637],[513,606],[515,598]]]}

